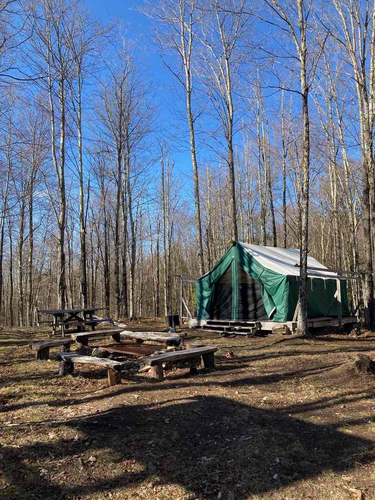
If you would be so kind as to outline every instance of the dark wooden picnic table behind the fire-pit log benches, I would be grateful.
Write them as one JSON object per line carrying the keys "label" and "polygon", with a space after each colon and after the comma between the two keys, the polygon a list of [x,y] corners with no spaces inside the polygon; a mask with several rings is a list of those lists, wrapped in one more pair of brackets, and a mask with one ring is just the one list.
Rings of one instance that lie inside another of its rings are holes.
{"label": "dark wooden picnic table behind the fire-pit log benches", "polygon": [[98,310],[104,310],[105,307],[76,307],[74,309],[37,309],[37,315],[47,314],[51,315],[52,318],[49,321],[40,321],[39,317],[37,317],[37,323],[50,323],[52,325],[52,335],[56,334],[56,328],[61,328],[61,335],[64,336],[65,329],[68,329],[69,326],[75,326],[76,331],[84,331],[85,326],[91,326],[91,329],[94,330],[95,326],[100,321],[109,321],[112,320],[108,317],[104,319],[98,319],[94,317],[95,313]]}

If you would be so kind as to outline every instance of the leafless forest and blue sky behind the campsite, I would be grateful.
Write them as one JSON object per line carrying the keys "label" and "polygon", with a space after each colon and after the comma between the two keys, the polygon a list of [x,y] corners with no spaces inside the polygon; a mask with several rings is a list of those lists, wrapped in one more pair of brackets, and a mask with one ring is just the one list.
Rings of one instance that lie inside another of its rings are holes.
{"label": "leafless forest and blue sky behind the campsite", "polygon": [[302,310],[307,252],[363,271],[373,325],[373,1],[138,7],[162,88],[83,1],[0,1],[0,323],[175,313],[235,239],[301,248]]}

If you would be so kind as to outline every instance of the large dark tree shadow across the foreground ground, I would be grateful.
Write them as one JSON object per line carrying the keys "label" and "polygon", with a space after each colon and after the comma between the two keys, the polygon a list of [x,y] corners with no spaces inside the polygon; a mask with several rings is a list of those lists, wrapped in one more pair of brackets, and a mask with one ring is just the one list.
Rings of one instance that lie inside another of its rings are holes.
{"label": "large dark tree shadow across the foreground ground", "polygon": [[[145,482],[155,491],[179,485],[199,500],[219,491],[244,500],[374,458],[370,440],[217,396],[124,405],[66,424],[88,438],[88,446],[70,439],[1,448],[9,498],[32,491],[33,498],[57,500],[121,487],[131,497],[131,487]],[[86,463],[90,455],[92,464]],[[64,466],[63,480],[53,479]]]}

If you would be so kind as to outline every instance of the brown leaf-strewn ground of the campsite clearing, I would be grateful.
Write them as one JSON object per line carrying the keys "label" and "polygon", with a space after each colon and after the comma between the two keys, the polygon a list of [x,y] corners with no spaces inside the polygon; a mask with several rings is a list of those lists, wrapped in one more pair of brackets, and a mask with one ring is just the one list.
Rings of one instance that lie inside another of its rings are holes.
{"label": "brown leaf-strewn ground of the campsite clearing", "polygon": [[357,352],[375,355],[370,332],[188,330],[218,347],[215,370],[113,387],[95,367],[58,377],[57,361],[35,361],[35,338],[46,331],[0,331],[3,500],[375,498],[375,376],[353,372]]}

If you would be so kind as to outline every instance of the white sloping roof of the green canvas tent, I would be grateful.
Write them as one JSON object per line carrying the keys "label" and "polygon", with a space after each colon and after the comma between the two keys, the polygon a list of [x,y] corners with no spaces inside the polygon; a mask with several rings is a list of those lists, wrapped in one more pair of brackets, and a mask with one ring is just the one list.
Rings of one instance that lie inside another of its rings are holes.
{"label": "white sloping roof of the green canvas tent", "polygon": [[[271,269],[279,274],[299,276],[299,249],[252,245],[250,243],[242,243],[241,241],[238,241],[238,244],[267,269]],[[307,255],[307,265],[321,268],[321,271],[308,270],[309,276],[315,275],[318,277],[324,275],[325,277],[337,277],[335,272],[327,271],[324,265],[309,255]]]}

